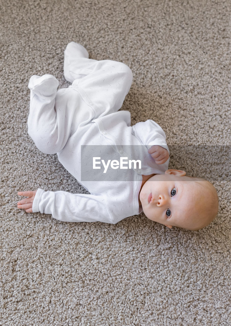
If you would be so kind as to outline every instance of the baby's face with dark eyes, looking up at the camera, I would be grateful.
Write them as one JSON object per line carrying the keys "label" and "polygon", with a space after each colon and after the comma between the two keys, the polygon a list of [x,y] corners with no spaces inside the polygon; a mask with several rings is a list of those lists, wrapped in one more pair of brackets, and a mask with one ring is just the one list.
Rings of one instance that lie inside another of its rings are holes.
{"label": "baby's face with dark eyes, looking up at the camera", "polygon": [[195,228],[203,207],[201,187],[194,179],[156,174],[142,186],[139,199],[144,214],[168,227]]}

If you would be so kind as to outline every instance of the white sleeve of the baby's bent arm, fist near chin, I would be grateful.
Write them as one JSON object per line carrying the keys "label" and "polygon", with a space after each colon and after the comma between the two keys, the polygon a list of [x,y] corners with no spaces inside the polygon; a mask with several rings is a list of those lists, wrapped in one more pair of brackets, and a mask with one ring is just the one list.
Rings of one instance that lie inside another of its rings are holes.
{"label": "white sleeve of the baby's bent arm, fist near chin", "polygon": [[159,145],[164,147],[169,153],[165,132],[153,120],[138,122],[132,126],[132,132],[148,149],[153,145]]}

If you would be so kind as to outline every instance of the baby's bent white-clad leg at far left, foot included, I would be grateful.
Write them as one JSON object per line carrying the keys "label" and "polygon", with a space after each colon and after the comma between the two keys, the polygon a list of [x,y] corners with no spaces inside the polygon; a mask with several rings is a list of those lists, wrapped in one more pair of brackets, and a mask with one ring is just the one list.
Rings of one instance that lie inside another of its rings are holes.
{"label": "baby's bent white-clad leg at far left, foot included", "polygon": [[71,125],[71,116],[65,116],[65,103],[63,110],[60,110],[60,105],[56,112],[58,85],[58,80],[52,75],[34,75],[28,85],[31,90],[28,134],[37,148],[46,154],[57,153],[65,146]]}

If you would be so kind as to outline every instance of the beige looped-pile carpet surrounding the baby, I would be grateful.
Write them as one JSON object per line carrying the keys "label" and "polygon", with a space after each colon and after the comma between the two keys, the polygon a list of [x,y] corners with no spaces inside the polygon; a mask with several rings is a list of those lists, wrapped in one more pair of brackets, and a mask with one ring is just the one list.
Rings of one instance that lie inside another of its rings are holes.
{"label": "beige looped-pile carpet surrounding the baby", "polygon": [[[228,0],[0,1],[0,325],[231,325],[230,12]],[[70,41],[131,67],[123,109],[132,124],[163,127],[171,168],[216,186],[209,227],[168,230],[142,214],[74,224],[17,209],[19,190],[84,191],[26,125],[31,75],[69,85]]]}

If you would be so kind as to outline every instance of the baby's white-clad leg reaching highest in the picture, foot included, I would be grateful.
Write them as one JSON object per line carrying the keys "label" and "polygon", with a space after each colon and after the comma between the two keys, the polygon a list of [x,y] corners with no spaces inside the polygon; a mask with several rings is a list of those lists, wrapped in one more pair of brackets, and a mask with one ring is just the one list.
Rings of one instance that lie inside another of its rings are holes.
{"label": "baby's white-clad leg reaching highest in the picture, foot included", "polygon": [[95,117],[121,108],[133,78],[128,66],[112,60],[88,59],[88,52],[75,42],[67,45],[64,56],[65,78],[94,103]]}

